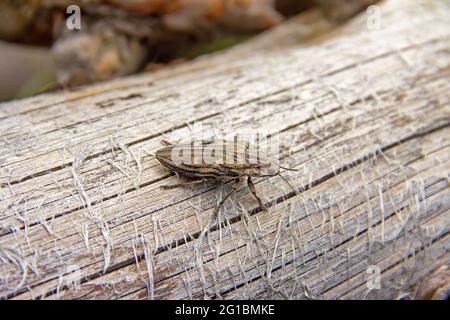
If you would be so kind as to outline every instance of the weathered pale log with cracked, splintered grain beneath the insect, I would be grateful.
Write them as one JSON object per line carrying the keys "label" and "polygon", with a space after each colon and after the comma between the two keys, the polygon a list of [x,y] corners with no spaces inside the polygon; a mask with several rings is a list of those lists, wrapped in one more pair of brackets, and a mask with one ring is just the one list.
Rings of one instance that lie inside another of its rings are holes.
{"label": "weathered pale log with cracked, splintered grain beneath the insect", "polygon": [[[450,27],[387,1],[331,30],[317,12],[154,74],[0,105],[0,296],[394,299],[449,263]],[[266,132],[300,169],[161,190],[174,140]],[[367,287],[368,267],[381,288]]]}

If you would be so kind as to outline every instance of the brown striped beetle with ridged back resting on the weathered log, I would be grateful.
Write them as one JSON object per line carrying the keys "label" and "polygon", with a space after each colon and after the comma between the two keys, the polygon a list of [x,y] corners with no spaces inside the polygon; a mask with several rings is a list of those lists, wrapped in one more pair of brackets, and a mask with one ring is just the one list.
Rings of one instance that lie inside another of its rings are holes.
{"label": "brown striped beetle with ridged back resting on the weathered log", "polygon": [[190,180],[175,185],[162,186],[164,189],[204,182],[207,179],[234,181],[231,190],[222,198],[214,210],[213,219],[218,215],[228,197],[237,190],[241,178],[247,178],[247,185],[263,210],[266,206],[256,193],[252,177],[280,176],[294,192],[292,185],[280,174],[280,169],[297,171],[276,165],[258,145],[248,141],[206,139],[190,140],[172,144],[164,141],[165,147],[155,153],[163,166],[175,172],[178,177]]}

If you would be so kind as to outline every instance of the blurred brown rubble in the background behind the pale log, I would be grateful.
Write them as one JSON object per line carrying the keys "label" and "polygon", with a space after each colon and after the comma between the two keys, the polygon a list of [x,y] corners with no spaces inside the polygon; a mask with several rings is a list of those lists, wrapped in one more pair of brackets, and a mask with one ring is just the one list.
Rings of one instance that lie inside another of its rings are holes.
{"label": "blurred brown rubble in the background behind the pale log", "polygon": [[[341,23],[376,0],[4,0],[0,99],[152,72],[319,7]],[[81,29],[70,30],[70,5]]]}

